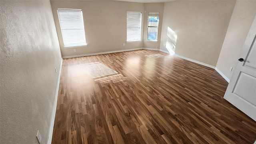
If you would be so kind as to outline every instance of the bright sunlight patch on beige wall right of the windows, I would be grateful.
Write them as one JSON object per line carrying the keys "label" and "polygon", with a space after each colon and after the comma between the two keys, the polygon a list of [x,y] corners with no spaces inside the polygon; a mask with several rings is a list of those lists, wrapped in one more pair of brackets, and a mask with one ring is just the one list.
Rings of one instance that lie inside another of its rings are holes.
{"label": "bright sunlight patch on beige wall right of the windows", "polygon": [[166,49],[170,52],[170,54],[175,54],[177,38],[178,35],[176,34],[176,32],[174,32],[170,27],[168,27]]}

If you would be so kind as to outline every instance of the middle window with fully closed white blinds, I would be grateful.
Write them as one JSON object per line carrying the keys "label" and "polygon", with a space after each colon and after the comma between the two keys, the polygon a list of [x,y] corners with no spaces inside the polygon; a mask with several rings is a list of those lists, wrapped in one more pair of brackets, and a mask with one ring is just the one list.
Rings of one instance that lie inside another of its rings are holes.
{"label": "middle window with fully closed white blinds", "polygon": [[127,12],[127,42],[140,41],[141,12]]}

